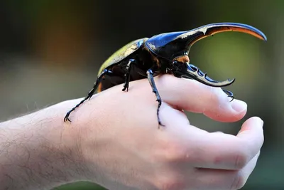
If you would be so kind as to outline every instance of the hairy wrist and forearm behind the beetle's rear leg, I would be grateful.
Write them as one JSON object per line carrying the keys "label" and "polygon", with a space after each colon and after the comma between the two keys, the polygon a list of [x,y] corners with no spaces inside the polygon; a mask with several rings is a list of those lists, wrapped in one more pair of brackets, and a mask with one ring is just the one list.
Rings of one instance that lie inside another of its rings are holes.
{"label": "hairy wrist and forearm behind the beetle's rear leg", "polygon": [[74,102],[0,123],[1,185],[50,189],[87,179],[77,125],[63,122]]}

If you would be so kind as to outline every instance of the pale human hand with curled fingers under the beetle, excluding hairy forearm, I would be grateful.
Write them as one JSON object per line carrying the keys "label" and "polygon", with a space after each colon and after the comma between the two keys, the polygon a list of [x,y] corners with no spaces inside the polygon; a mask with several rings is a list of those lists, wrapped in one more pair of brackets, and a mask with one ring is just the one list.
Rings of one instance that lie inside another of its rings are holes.
{"label": "pale human hand with curled fingers under the beetle, excluding hairy forearm", "polygon": [[220,88],[195,80],[163,75],[155,83],[163,100],[160,129],[148,80],[131,82],[128,92],[117,85],[72,112],[87,180],[116,190],[244,186],[263,144],[263,121],[246,120],[236,136],[206,132],[190,125],[182,110],[235,122],[246,114],[246,103],[229,102]]}

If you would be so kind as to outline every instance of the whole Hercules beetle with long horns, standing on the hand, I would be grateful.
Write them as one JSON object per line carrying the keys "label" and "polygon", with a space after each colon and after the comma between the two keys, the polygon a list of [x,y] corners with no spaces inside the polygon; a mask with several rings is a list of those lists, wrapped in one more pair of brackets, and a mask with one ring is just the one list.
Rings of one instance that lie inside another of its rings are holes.
{"label": "whole Hercules beetle with long horns, standing on the hand", "polygon": [[[141,38],[131,41],[116,51],[102,64],[92,90],[89,91],[84,100],[67,112],[64,121],[69,120],[70,113],[85,100],[90,99],[96,90],[99,93],[114,85],[124,83],[122,90],[128,91],[129,81],[148,78],[158,101],[158,123],[159,126],[164,126],[160,122],[159,109],[162,100],[155,86],[154,76],[169,73],[178,78],[194,79],[213,87],[224,87],[234,83],[234,79],[221,82],[212,80],[207,76],[207,73],[203,73],[195,65],[190,64],[188,56],[190,48],[195,42],[207,36],[213,36],[214,33],[224,31],[249,33],[266,41],[264,33],[253,26],[243,23],[211,23],[190,31],[161,33],[151,38]],[[228,90],[223,91],[229,97],[232,97],[232,100],[234,99],[233,93]]]}

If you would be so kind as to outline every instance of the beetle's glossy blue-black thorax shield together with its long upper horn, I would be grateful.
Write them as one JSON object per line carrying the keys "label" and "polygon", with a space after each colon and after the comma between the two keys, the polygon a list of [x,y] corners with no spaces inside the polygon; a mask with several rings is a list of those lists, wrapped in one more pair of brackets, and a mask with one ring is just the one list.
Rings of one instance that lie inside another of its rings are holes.
{"label": "beetle's glossy blue-black thorax shield together with its long upper horn", "polygon": [[190,31],[160,33],[149,38],[146,41],[146,46],[156,56],[171,60],[178,56],[179,53],[189,53],[190,47],[200,39],[225,31],[249,33],[256,38],[266,41],[264,33],[244,23],[211,23]]}

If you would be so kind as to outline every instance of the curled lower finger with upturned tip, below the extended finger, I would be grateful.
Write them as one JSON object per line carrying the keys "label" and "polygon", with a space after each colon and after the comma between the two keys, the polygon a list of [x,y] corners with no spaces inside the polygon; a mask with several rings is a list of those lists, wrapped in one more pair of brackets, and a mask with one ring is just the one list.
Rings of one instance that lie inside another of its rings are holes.
{"label": "curled lower finger with upturned tip, below the extended finger", "polygon": [[[204,133],[196,142],[195,167],[210,169],[241,169],[258,154],[263,145],[263,121],[259,117],[246,120],[236,136]],[[200,130],[196,128],[195,130]]]}

